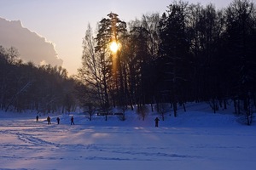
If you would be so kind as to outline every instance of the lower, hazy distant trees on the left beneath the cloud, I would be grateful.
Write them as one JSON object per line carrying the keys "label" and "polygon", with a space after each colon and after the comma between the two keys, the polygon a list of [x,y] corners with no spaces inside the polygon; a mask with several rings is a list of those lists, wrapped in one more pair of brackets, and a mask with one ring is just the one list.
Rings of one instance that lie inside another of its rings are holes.
{"label": "lower, hazy distant trees on the left beneath the cloud", "polygon": [[77,105],[76,82],[51,65],[23,63],[15,48],[0,46],[0,109],[2,111],[69,112]]}

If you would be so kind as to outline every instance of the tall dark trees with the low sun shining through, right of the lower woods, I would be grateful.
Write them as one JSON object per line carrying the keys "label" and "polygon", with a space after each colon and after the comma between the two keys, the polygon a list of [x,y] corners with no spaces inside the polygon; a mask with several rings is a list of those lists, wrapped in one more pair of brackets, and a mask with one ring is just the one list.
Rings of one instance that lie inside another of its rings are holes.
{"label": "tall dark trees with the low sun shining through, right of the lower woods", "polygon": [[[164,14],[126,23],[118,14],[102,19],[96,37],[83,42],[79,80],[84,105],[107,112],[145,104],[207,101],[214,111],[232,99],[251,116],[256,90],[256,10],[247,0],[226,8],[173,2]],[[118,43],[118,51],[110,43]],[[83,92],[82,92],[83,91]],[[248,119],[249,120],[249,119]]]}

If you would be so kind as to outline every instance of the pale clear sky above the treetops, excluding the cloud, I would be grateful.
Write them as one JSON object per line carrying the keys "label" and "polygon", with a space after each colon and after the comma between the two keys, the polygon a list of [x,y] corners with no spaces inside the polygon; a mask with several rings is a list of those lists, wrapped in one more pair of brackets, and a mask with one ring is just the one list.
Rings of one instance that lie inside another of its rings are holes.
{"label": "pale clear sky above the treetops, excluding the cloud", "polygon": [[[213,3],[216,8],[224,8],[232,0],[188,2]],[[81,67],[82,42],[89,24],[96,31],[96,23],[110,12],[129,22],[143,14],[162,14],[171,3],[172,0],[0,0],[0,17],[20,20],[23,27],[53,42],[58,57],[63,59],[62,66],[73,75]]]}

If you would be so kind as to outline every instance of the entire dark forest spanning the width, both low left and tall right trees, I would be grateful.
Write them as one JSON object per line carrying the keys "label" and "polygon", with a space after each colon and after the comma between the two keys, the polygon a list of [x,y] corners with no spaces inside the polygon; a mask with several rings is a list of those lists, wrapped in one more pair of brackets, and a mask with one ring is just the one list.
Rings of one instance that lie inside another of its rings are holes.
{"label": "entire dark forest spanning the width, both low left and tall right trees", "polygon": [[[121,17],[120,17],[121,18]],[[96,34],[94,34],[96,32]],[[174,1],[163,14],[125,22],[110,13],[83,38],[82,66],[23,63],[15,48],[0,48],[0,106],[5,111],[125,113],[137,105],[232,103],[251,123],[256,105],[256,10],[249,0],[226,8]],[[152,109],[153,106],[152,106]],[[106,116],[107,118],[107,116]]]}

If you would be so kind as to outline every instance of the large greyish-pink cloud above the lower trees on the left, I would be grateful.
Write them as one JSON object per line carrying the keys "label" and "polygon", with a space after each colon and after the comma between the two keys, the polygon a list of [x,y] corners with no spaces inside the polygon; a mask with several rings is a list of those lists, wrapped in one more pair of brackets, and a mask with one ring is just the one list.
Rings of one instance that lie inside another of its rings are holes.
{"label": "large greyish-pink cloud above the lower trees on the left", "polygon": [[49,64],[62,65],[63,60],[58,58],[55,45],[44,37],[24,28],[20,20],[5,20],[0,18],[0,45],[5,48],[18,49],[20,59],[32,61],[35,65]]}

